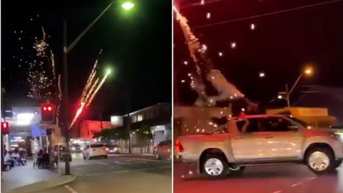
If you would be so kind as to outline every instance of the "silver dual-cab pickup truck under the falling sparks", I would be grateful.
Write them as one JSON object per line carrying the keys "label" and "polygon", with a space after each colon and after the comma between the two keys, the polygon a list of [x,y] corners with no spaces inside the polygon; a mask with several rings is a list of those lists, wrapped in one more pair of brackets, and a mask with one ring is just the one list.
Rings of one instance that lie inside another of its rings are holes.
{"label": "silver dual-cab pickup truck under the falling sparks", "polygon": [[342,164],[343,142],[330,128],[304,127],[282,115],[254,115],[231,118],[210,133],[180,136],[175,151],[209,177],[240,174],[246,166],[290,163],[306,164],[320,175]]}

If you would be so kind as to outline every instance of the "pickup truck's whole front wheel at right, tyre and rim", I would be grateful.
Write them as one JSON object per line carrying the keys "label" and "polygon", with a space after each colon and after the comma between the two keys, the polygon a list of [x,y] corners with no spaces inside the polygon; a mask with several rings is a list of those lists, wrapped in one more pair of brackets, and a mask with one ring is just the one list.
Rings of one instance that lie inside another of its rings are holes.
{"label": "pickup truck's whole front wheel at right, tyre and rim", "polygon": [[306,164],[309,169],[318,174],[335,170],[335,156],[331,149],[319,147],[309,150],[306,155]]}

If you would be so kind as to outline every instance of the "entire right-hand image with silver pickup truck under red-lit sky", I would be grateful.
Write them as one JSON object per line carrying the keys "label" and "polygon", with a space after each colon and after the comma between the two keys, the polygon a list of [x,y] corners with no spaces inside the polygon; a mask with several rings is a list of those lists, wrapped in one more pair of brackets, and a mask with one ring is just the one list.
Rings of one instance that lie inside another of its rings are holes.
{"label": "entire right-hand image with silver pickup truck under red-lit sky", "polygon": [[174,1],[174,192],[343,192],[343,2]]}

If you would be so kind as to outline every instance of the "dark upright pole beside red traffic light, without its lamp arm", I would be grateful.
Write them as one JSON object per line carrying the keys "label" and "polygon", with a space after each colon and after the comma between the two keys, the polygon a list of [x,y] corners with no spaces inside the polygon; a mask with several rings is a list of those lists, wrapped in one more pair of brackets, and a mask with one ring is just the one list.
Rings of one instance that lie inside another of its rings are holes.
{"label": "dark upright pole beside red traffic light, without its lamp arm", "polygon": [[67,60],[67,21],[63,21],[63,110],[64,110],[64,123],[63,123],[63,130],[64,130],[64,137],[66,140],[67,145],[67,155],[64,156],[65,160],[65,175],[70,175],[70,166],[69,166],[69,99],[68,99],[68,60]]}

